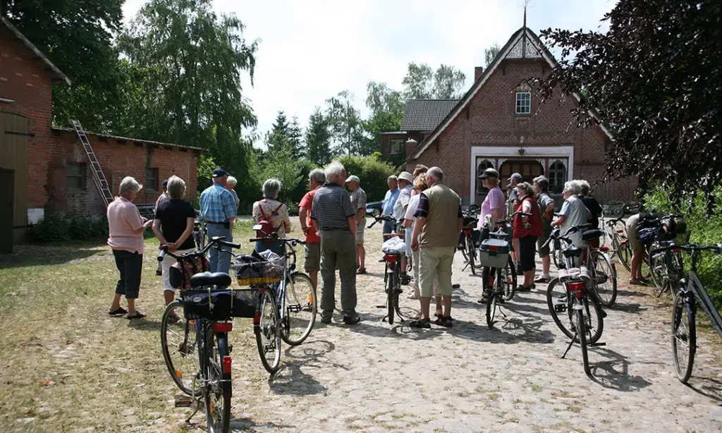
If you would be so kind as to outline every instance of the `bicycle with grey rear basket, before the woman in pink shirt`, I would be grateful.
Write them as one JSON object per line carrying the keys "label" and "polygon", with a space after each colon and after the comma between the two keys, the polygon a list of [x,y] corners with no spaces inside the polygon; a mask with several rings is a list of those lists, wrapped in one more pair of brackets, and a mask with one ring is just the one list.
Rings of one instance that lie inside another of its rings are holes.
{"label": "bicycle with grey rear basket, before the woman in pink shirt", "polygon": [[[497,305],[510,301],[516,291],[516,266],[511,259],[511,235],[509,223],[514,216],[531,216],[526,212],[516,211],[506,219],[497,221],[498,229],[489,233],[489,239],[479,246],[479,263],[483,266],[482,281],[484,297],[487,304],[487,325],[491,328],[495,323]],[[483,300],[483,299],[482,299]],[[504,317],[506,315],[501,313]]]}

